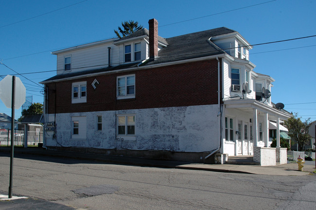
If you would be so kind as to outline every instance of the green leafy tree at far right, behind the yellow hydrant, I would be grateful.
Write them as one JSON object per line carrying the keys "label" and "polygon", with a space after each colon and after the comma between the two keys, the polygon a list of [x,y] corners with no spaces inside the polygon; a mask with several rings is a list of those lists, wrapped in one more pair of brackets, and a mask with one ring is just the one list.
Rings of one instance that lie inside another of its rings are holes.
{"label": "green leafy tree at far right, behind the yellow hydrant", "polygon": [[284,121],[285,127],[289,130],[289,136],[291,140],[295,140],[298,143],[298,151],[303,151],[304,145],[312,137],[308,134],[308,128],[311,126],[310,119],[302,122],[295,113],[291,118]]}

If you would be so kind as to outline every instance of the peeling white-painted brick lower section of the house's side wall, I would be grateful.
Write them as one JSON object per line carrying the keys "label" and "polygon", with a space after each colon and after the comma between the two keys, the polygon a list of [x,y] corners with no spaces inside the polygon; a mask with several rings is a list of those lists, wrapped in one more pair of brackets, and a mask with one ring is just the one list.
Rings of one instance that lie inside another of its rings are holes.
{"label": "peeling white-painted brick lower section of the house's side wall", "polygon": [[[119,111],[56,114],[57,141],[47,136],[47,146],[100,149],[169,150],[204,152],[218,147],[217,105],[181,106]],[[116,115],[135,114],[136,140],[116,140]],[[96,115],[103,130],[96,131]],[[71,117],[87,117],[87,139],[71,139]],[[53,115],[49,116],[53,121]]]}

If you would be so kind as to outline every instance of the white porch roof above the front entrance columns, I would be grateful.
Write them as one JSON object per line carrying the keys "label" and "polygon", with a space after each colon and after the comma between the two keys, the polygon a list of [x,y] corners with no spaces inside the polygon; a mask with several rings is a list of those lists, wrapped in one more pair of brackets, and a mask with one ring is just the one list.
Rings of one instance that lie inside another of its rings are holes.
{"label": "white porch roof above the front entrance columns", "polygon": [[268,120],[276,120],[280,118],[282,120],[287,120],[292,115],[287,111],[277,109],[273,105],[263,104],[255,99],[237,99],[237,100],[227,100],[224,101],[226,108],[235,108],[241,111],[248,112],[249,114],[253,113],[254,109],[257,109],[260,112],[268,113]]}

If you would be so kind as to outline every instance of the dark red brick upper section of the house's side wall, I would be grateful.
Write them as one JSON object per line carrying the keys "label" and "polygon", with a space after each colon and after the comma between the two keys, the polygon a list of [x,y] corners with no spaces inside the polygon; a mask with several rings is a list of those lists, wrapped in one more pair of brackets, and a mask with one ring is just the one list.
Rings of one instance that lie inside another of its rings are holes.
{"label": "dark red brick upper section of the house's side wall", "polygon": [[[116,77],[135,74],[135,98],[116,99]],[[99,86],[94,89],[94,79]],[[71,83],[87,81],[87,103],[71,104]],[[48,112],[69,113],[217,104],[217,60],[47,84]],[[55,93],[56,104],[55,104]]]}

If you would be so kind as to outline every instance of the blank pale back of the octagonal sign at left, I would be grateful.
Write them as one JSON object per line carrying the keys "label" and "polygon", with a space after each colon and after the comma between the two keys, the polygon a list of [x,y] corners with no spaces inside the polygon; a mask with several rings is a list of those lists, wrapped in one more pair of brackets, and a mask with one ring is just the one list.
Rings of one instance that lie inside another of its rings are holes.
{"label": "blank pale back of the octagonal sign at left", "polygon": [[[12,108],[12,77],[7,75],[0,81],[0,99],[7,108]],[[16,77],[15,93],[15,109],[19,109],[25,102],[25,87],[18,77]]]}

